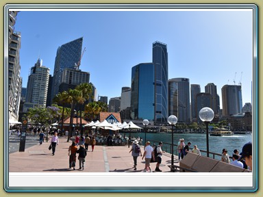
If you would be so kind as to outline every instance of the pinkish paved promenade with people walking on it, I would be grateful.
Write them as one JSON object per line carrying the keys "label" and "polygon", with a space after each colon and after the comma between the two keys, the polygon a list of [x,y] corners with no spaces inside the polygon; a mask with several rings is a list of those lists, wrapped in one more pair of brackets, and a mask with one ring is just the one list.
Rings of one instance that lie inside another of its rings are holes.
{"label": "pinkish paved promenade with people walking on it", "polygon": [[[26,148],[25,152],[9,154],[9,172],[143,172],[145,160],[138,157],[137,170],[134,170],[132,153],[129,150],[132,146],[95,146],[91,151],[88,147],[85,169],[79,168],[79,160],[76,161],[76,170],[70,170],[68,165],[68,146],[71,142],[66,142],[66,137],[60,137],[60,143],[56,147],[55,155],[48,149],[50,142],[42,145],[35,145]],[[142,154],[143,147],[141,146]],[[177,159],[177,156],[175,156]],[[177,165],[175,160],[175,165]],[[155,170],[156,163],[151,163],[151,168]],[[168,165],[171,165],[171,155],[164,153],[160,169],[163,172],[170,172]],[[162,173],[162,172],[158,172]]]}

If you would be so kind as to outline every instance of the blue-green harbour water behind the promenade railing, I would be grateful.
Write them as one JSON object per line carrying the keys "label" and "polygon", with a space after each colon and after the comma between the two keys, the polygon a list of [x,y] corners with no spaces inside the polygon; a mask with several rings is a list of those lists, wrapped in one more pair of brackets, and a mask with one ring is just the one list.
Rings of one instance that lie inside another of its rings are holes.
{"label": "blue-green harbour water behind the promenade railing", "polygon": [[[142,137],[142,140],[145,140],[145,133],[132,133],[132,137]],[[155,142],[166,142],[171,144],[171,133],[147,133],[147,141]],[[177,144],[179,139],[184,138],[185,143],[191,142],[190,149],[196,144],[200,150],[206,150],[206,135],[205,133],[173,133],[174,144]],[[231,135],[231,136],[209,136],[209,151],[213,153],[222,153],[223,148],[228,150],[229,156],[234,153],[234,149],[238,149],[241,153],[242,147],[247,142],[252,142],[253,135]],[[144,144],[144,142],[142,143]],[[153,143],[151,143],[153,144]],[[176,147],[175,147],[176,148]],[[166,152],[170,152],[170,146],[163,147]],[[175,150],[174,150],[175,151]],[[174,152],[175,153],[175,152]],[[206,153],[201,153],[206,155]],[[215,159],[220,159],[220,157],[215,157]]]}

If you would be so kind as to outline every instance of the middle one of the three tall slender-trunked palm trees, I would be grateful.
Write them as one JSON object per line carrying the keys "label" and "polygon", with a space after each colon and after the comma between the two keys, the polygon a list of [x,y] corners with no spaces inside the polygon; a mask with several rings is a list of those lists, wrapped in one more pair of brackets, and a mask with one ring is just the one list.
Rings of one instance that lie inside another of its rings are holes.
{"label": "middle one of the three tall slender-trunked palm trees", "polygon": [[68,133],[68,140],[67,142],[69,142],[71,136],[72,136],[72,126],[73,126],[73,116],[74,116],[74,108],[75,108],[75,104],[79,103],[79,101],[82,99],[82,92],[80,92],[79,90],[72,90],[69,89],[68,90],[68,99],[71,102],[71,119],[70,119],[70,128],[69,128],[69,133]]}

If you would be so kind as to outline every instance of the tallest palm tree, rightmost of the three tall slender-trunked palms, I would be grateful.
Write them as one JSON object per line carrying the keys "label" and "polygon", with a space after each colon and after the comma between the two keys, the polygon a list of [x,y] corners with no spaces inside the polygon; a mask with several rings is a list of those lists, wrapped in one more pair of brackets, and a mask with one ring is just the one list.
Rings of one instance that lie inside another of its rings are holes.
{"label": "tallest palm tree, rightmost of the three tall slender-trunked palms", "polygon": [[76,90],[79,90],[82,92],[82,97],[79,98],[79,104],[80,106],[80,127],[81,127],[81,135],[83,135],[83,127],[82,127],[82,109],[85,101],[90,99],[92,96],[92,85],[88,83],[81,83],[76,87]]}

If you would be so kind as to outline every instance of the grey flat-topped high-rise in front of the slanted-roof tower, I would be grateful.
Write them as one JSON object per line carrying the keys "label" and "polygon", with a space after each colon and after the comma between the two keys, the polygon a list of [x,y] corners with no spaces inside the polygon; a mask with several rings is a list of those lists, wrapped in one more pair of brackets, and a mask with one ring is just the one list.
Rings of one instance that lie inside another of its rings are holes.
{"label": "grey flat-topped high-rise in front of the slanted-roof tower", "polygon": [[62,72],[59,92],[75,89],[81,83],[90,83],[90,73],[72,68],[65,68]]}

